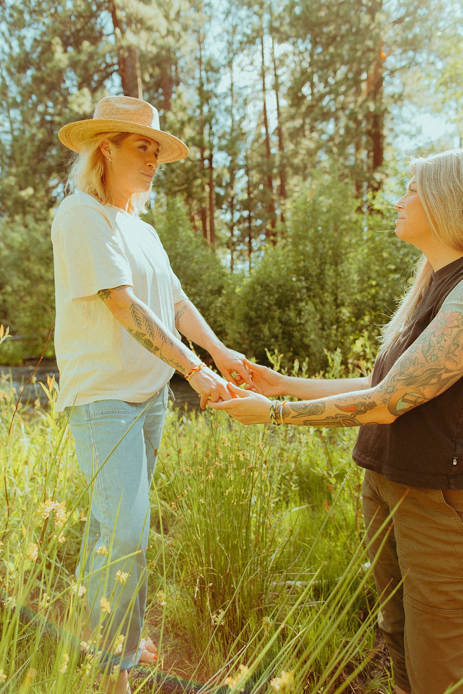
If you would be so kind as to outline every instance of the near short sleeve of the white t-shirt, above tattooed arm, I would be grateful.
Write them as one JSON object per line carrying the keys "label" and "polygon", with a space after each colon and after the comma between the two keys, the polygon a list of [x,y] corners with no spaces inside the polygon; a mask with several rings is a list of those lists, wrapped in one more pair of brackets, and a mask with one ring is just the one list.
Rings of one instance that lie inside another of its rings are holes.
{"label": "near short sleeve of the white t-shirt, above tattooed arm", "polygon": [[101,212],[87,205],[68,210],[60,235],[71,299],[120,285],[133,287],[124,246]]}

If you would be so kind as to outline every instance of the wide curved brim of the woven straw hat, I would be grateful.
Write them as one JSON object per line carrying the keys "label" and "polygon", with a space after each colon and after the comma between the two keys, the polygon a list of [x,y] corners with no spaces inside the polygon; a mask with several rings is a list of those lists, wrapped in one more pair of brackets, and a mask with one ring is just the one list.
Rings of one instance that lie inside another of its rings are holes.
{"label": "wide curved brim of the woven straw hat", "polygon": [[93,119],[89,118],[85,121],[76,121],[63,126],[58,132],[58,139],[62,144],[73,152],[80,152],[83,144],[87,142],[93,135],[100,133],[140,133],[151,137],[159,143],[158,162],[167,164],[169,162],[178,162],[180,159],[185,159],[189,154],[189,149],[181,139],[165,133],[164,130],[155,130],[148,126],[141,126],[131,121],[119,121],[110,119]]}

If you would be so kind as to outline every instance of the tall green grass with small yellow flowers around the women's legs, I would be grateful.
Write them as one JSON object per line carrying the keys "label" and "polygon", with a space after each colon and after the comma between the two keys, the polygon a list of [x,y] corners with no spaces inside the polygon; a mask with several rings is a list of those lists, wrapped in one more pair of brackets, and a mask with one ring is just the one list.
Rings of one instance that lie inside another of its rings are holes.
{"label": "tall green grass with small yellow flowers around the women's legs", "polygon": [[[53,410],[56,384],[44,386],[48,407],[19,406],[9,436],[18,393],[0,386],[0,693],[90,691],[99,651],[117,639],[104,642],[102,608],[102,629],[81,646],[85,582],[74,569],[85,478]],[[160,656],[133,692],[162,691],[166,675],[184,691],[348,688],[371,659],[378,609],[354,439],[169,411],[146,552],[147,626]],[[365,691],[389,686],[383,672]]]}

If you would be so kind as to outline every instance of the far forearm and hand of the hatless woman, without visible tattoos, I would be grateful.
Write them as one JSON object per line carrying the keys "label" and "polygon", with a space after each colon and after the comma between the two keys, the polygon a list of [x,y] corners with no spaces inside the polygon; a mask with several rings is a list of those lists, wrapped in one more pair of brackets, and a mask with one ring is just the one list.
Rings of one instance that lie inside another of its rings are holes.
{"label": "far forearm and hand of the hatless woman, without visible tattoos", "polygon": [[339,393],[367,390],[371,388],[373,375],[371,372],[362,378],[297,378],[247,360],[246,365],[253,379],[253,390],[267,398],[291,396],[298,400],[317,400]]}

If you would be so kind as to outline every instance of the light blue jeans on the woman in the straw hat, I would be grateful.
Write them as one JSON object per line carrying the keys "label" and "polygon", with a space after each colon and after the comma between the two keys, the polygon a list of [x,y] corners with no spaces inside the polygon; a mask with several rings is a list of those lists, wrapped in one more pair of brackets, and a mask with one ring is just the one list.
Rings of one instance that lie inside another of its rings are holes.
{"label": "light blue jeans on the woman in the straw hat", "polygon": [[[87,484],[95,477],[89,487],[90,505],[76,579],[87,589],[90,629],[103,623],[108,644],[118,633],[125,637],[121,654],[103,650],[101,668],[110,663],[128,670],[142,654],[139,642],[146,606],[149,488],[168,399],[166,385],[144,403],[99,400],[66,407],[78,465]],[[103,550],[97,552],[99,548]],[[101,612],[101,598],[109,600],[109,614]]]}

